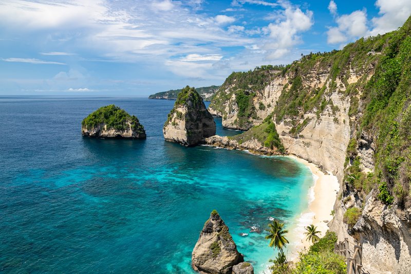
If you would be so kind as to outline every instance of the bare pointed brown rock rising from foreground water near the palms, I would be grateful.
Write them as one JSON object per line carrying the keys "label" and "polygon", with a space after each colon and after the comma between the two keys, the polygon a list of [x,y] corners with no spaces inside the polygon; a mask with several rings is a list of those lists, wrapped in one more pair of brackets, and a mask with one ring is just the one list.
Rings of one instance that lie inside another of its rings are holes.
{"label": "bare pointed brown rock rising from foreground water near the palms", "polygon": [[202,274],[231,274],[233,266],[244,262],[227,225],[216,210],[204,224],[191,260],[193,269]]}

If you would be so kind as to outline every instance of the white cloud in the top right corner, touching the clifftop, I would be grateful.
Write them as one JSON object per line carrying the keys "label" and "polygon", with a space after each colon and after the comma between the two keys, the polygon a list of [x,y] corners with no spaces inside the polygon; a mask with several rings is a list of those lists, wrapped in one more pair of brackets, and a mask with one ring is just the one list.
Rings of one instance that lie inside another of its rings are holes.
{"label": "white cloud in the top right corner, touching the clifftop", "polygon": [[373,17],[370,35],[383,34],[402,26],[411,14],[410,0],[377,0],[379,17]]}

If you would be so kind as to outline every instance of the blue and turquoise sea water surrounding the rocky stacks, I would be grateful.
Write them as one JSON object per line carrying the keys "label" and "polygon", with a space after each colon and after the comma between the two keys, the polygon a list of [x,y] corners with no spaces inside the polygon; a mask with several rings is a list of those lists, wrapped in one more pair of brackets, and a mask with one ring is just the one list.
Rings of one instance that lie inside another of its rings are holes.
{"label": "blue and turquoise sea water surrounding the rocky stacks", "polygon": [[[82,137],[82,119],[108,104],[136,115],[147,139]],[[312,174],[287,157],[165,142],[173,104],[0,97],[0,272],[193,273],[191,252],[213,209],[263,271],[274,257],[269,218],[295,226]],[[217,134],[238,134],[216,123]]]}

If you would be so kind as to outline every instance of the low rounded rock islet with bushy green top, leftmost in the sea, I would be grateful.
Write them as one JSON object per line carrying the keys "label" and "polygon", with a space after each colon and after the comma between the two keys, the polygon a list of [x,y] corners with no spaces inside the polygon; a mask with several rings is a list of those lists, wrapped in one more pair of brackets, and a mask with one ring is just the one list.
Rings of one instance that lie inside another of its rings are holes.
{"label": "low rounded rock islet with bushy green top, leftmost in the sea", "polygon": [[81,123],[81,134],[94,138],[145,139],[145,131],[136,116],[115,105],[100,107]]}

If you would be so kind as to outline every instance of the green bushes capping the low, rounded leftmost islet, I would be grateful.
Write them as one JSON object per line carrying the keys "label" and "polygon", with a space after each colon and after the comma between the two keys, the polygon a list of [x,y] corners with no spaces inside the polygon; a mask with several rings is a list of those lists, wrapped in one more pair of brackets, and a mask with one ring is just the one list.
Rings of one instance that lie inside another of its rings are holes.
{"label": "green bushes capping the low, rounded leftmost islet", "polygon": [[144,127],[140,124],[136,116],[129,115],[124,109],[115,105],[100,107],[97,111],[84,118],[81,125],[85,126],[87,129],[91,129],[102,123],[106,124],[108,129],[115,129],[118,131],[128,129],[128,123],[130,123],[133,130],[144,132]]}

